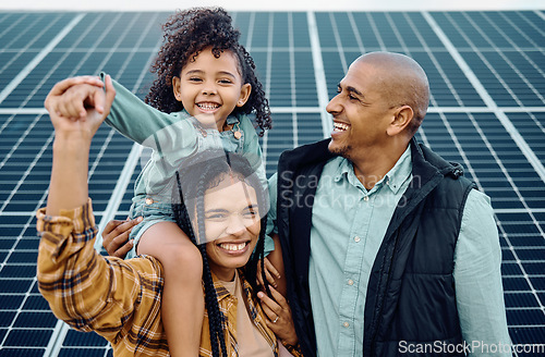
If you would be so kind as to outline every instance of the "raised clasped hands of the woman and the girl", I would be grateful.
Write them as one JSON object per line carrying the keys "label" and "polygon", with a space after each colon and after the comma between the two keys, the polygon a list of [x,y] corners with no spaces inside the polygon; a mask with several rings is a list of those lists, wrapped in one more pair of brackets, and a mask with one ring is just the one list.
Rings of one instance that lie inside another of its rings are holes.
{"label": "raised clasped hands of the woman and the girl", "polygon": [[83,76],[68,78],[53,86],[45,107],[57,136],[77,133],[90,139],[95,135],[116,97],[110,76],[106,77],[105,85],[106,93],[98,78]]}

